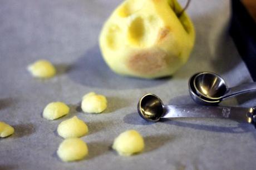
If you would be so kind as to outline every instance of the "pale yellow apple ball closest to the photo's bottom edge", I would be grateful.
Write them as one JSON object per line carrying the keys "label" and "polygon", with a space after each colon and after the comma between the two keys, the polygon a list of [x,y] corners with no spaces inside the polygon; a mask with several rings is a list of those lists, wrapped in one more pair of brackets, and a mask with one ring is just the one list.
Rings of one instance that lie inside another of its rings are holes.
{"label": "pale yellow apple ball closest to the photo's bottom edge", "polygon": [[80,138],[65,139],[57,151],[63,162],[78,161],[88,154],[87,144]]}

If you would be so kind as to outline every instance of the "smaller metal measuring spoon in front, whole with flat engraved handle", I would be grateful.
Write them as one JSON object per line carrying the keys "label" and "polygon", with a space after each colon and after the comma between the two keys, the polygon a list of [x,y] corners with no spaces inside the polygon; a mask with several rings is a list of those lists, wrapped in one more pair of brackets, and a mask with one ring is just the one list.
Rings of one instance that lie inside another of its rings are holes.
{"label": "smaller metal measuring spoon in front, whole with flat engraved handle", "polygon": [[214,106],[174,106],[164,105],[155,94],[146,94],[140,98],[137,106],[139,115],[150,122],[162,118],[181,117],[225,118],[238,122],[252,123],[256,127],[256,107],[214,107]]}

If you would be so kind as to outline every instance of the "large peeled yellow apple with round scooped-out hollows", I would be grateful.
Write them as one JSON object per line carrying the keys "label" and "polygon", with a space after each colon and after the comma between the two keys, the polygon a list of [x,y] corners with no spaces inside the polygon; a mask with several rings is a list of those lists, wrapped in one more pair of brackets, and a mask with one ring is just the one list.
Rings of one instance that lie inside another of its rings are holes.
{"label": "large peeled yellow apple with round scooped-out hollows", "polygon": [[102,56],[115,73],[139,78],[171,76],[188,61],[193,23],[176,0],[126,0],[99,37]]}

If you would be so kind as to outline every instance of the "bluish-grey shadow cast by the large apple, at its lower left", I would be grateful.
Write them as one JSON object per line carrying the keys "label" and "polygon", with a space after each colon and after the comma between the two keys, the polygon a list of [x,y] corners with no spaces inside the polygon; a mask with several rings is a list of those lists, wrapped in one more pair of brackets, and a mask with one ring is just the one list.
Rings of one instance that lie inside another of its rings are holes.
{"label": "bluish-grey shadow cast by the large apple, at its lower left", "polygon": [[97,45],[78,58],[67,74],[70,79],[84,86],[116,90],[149,88],[170,80],[170,77],[152,80],[117,75],[106,65]]}

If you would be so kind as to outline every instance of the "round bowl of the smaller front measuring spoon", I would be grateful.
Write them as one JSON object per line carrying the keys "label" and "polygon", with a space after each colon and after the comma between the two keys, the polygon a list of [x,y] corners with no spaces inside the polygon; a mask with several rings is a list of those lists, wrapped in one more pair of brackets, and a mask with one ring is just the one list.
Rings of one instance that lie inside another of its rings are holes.
{"label": "round bowl of the smaller front measuring spoon", "polygon": [[164,112],[163,102],[155,94],[146,94],[141,97],[137,109],[140,116],[150,122],[159,121]]}

